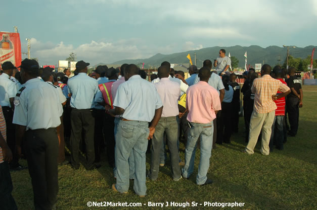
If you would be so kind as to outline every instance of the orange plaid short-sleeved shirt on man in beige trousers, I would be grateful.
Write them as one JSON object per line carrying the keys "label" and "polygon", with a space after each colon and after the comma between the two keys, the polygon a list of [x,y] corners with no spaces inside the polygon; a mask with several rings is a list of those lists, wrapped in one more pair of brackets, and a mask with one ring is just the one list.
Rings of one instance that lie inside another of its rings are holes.
{"label": "orange plaid short-sleeved shirt on man in beige trousers", "polygon": [[261,78],[255,79],[251,87],[252,93],[255,94],[254,110],[258,113],[268,113],[276,110],[277,106],[272,99],[272,95],[276,95],[278,91],[285,93],[289,90],[289,87],[269,75],[263,75]]}

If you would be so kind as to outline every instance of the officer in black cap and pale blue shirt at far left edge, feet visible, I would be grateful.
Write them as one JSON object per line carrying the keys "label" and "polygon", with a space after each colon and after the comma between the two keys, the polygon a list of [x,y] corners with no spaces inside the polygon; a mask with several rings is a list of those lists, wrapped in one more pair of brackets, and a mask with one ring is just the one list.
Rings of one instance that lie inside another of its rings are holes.
{"label": "officer in black cap and pale blue shirt at far left edge, feet visible", "polygon": [[7,124],[7,141],[8,145],[13,153],[13,160],[10,163],[11,170],[22,170],[19,164],[19,158],[15,153],[15,125],[12,124],[13,119],[13,100],[17,94],[16,85],[9,78],[13,74],[13,69],[16,67],[10,61],[6,61],[2,64],[4,73],[0,76],[0,105],[2,106],[3,113]]}

